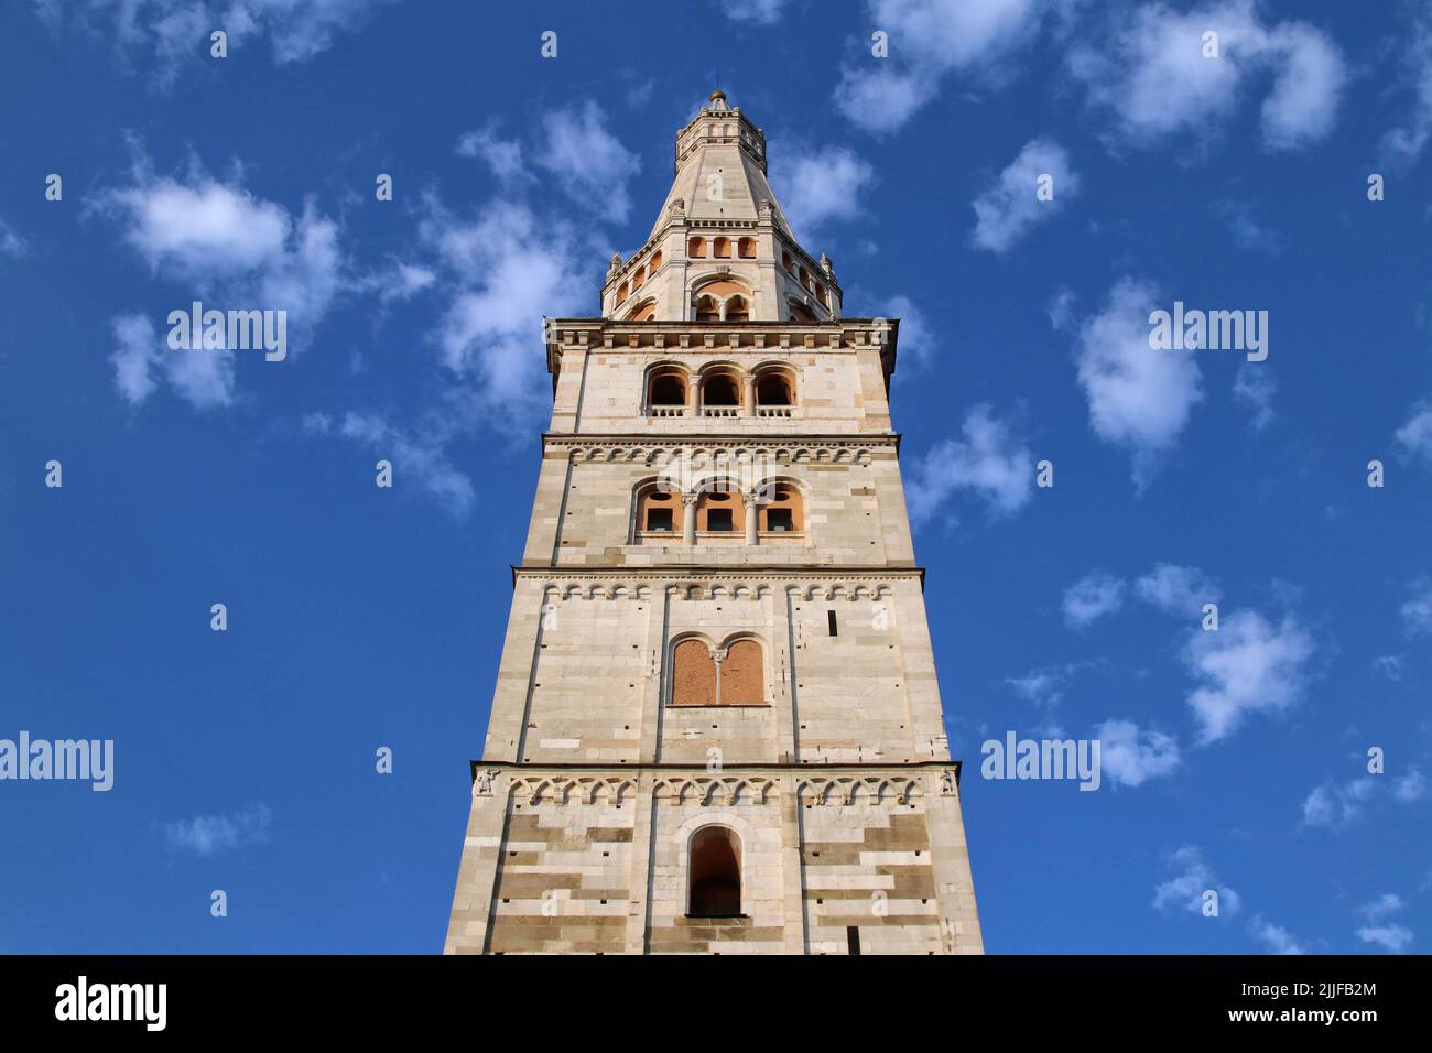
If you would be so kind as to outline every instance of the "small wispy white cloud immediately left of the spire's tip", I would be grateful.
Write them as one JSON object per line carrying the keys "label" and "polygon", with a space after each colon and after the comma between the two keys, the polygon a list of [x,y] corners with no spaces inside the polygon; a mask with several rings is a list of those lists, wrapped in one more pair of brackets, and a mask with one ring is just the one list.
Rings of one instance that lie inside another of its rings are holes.
{"label": "small wispy white cloud immediately left of the spire's tip", "polygon": [[546,113],[537,165],[556,176],[576,203],[620,223],[632,212],[627,182],[642,170],[642,162],[606,122],[607,115],[590,99],[580,109]]}

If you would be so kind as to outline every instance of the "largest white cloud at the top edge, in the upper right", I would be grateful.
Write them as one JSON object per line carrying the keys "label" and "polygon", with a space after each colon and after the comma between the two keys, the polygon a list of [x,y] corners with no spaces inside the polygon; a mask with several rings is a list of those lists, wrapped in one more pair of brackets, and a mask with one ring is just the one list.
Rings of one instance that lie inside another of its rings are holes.
{"label": "largest white cloud at the top edge, in the upper right", "polygon": [[[1203,34],[1219,34],[1204,57]],[[1223,0],[1183,13],[1164,3],[1110,16],[1108,36],[1070,52],[1070,72],[1090,103],[1108,110],[1117,138],[1151,146],[1189,133],[1207,140],[1243,99],[1272,80],[1262,106],[1263,143],[1297,149],[1333,126],[1348,69],[1337,46],[1303,21],[1266,24],[1253,0]]]}

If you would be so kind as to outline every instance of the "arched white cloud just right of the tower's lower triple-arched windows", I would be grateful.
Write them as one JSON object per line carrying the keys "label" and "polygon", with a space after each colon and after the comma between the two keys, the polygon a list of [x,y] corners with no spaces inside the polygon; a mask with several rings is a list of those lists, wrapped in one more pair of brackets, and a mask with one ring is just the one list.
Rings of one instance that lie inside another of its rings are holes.
{"label": "arched white cloud just right of the tower's lower triple-arched windows", "polygon": [[911,473],[911,517],[925,521],[958,491],[984,500],[992,517],[1012,516],[1028,503],[1034,486],[1034,457],[1014,428],[988,404],[965,414],[964,438],[937,444]]}

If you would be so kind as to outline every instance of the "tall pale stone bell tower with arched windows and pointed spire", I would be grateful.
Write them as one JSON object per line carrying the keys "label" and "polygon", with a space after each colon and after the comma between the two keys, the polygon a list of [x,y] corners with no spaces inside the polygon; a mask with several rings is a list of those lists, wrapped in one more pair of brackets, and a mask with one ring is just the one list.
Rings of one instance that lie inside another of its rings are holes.
{"label": "tall pale stone bell tower with arched windows and pointed spire", "polygon": [[447,953],[982,950],[889,415],[760,129],[676,136],[553,375]]}

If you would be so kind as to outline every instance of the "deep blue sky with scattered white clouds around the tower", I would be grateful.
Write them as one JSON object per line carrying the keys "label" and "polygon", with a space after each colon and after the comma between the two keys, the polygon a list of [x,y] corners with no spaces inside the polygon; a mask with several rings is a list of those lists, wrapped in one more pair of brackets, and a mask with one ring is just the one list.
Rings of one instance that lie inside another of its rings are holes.
{"label": "deep blue sky with scattered white clouds around the tower", "polygon": [[[1423,950],[1432,10],[507,7],[0,9],[0,738],[116,744],[109,792],[0,782],[0,951],[441,947],[540,319],[597,314],[715,87],[904,318],[988,950]],[[169,351],[196,298],[286,305],[288,357]],[[1266,361],[1151,351],[1174,301],[1267,311]],[[1008,731],[1104,785],[982,779]]]}

